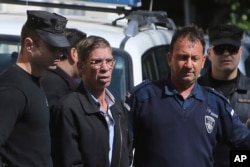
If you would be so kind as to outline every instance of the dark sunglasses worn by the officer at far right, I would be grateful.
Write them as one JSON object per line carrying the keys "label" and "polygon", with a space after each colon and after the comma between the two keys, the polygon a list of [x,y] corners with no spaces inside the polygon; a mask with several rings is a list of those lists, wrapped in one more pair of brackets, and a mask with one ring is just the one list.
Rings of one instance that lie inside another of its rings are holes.
{"label": "dark sunglasses worn by the officer at far right", "polygon": [[216,45],[213,47],[214,53],[216,55],[222,55],[225,51],[228,51],[230,55],[238,53],[239,46],[234,46],[230,44]]}

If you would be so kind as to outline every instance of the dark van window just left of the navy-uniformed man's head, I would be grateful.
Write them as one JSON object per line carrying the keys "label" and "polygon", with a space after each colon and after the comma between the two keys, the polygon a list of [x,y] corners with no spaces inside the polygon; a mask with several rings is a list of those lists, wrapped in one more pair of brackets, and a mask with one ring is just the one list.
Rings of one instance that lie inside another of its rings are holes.
{"label": "dark van window just left of the navy-uniformed man's head", "polygon": [[158,80],[166,77],[169,72],[167,52],[169,45],[158,46],[148,50],[142,56],[143,80]]}

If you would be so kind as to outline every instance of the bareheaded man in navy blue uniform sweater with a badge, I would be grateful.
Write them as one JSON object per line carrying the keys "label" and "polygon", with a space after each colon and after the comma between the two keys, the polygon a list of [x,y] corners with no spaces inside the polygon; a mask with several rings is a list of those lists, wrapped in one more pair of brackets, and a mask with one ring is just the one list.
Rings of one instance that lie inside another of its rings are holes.
{"label": "bareheaded man in navy blue uniform sweater with a badge", "polygon": [[168,78],[144,81],[126,99],[136,167],[213,167],[217,142],[250,148],[250,131],[224,96],[202,87],[203,32],[177,29],[167,55]]}

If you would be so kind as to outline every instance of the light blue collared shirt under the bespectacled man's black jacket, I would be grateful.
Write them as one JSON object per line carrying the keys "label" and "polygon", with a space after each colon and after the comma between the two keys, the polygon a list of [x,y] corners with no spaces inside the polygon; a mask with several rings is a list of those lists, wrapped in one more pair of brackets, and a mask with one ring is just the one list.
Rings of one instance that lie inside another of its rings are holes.
{"label": "light blue collared shirt under the bespectacled man's black jacket", "polygon": [[108,110],[107,112],[104,112],[100,109],[100,103],[98,102],[98,100],[91,95],[91,97],[94,99],[94,101],[96,102],[97,107],[99,107],[99,111],[101,112],[101,114],[104,116],[107,125],[108,125],[108,129],[109,129],[109,163],[111,164],[111,160],[112,160],[112,152],[113,152],[113,141],[114,141],[114,127],[115,127],[115,120],[113,119],[110,107],[112,105],[114,105],[115,103],[115,98],[114,96],[111,94],[111,92],[106,89],[106,102],[108,104]]}

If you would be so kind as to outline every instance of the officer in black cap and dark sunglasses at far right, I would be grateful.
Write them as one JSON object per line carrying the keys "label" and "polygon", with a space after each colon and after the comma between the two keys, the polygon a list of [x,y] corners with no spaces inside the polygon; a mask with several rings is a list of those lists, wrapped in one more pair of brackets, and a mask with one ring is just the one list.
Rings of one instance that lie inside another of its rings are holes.
{"label": "officer in black cap and dark sunglasses at far right", "polygon": [[[222,24],[209,29],[209,70],[198,79],[201,85],[213,87],[229,99],[243,123],[250,119],[250,78],[238,69],[242,54],[243,30]],[[250,121],[248,121],[250,122]],[[215,167],[229,166],[229,148],[219,144],[215,151]]]}

